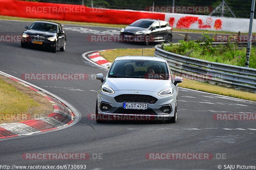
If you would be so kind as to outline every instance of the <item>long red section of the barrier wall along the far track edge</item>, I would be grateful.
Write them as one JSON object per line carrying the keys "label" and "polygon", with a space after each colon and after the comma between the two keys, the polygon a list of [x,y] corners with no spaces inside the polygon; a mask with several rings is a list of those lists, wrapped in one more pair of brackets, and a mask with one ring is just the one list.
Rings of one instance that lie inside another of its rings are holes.
{"label": "long red section of the barrier wall along the far track edge", "polygon": [[164,14],[88,8],[82,5],[0,0],[0,15],[106,24],[131,24],[140,18],[164,20]]}

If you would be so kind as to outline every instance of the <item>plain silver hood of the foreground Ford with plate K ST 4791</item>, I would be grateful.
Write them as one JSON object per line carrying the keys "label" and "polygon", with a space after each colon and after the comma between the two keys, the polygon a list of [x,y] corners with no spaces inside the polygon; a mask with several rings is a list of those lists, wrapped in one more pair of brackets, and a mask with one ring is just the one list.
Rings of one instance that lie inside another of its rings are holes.
{"label": "plain silver hood of the foreground Ford with plate K ST 4791", "polygon": [[162,89],[171,86],[171,80],[154,80],[140,78],[107,78],[108,84],[116,90],[141,90],[160,92]]}

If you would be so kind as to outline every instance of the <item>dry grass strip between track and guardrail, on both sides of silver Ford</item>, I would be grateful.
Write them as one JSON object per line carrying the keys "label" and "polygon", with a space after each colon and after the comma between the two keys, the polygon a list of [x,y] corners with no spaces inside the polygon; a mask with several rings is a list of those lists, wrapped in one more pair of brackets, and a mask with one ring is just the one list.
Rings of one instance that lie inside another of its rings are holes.
{"label": "dry grass strip between track and guardrail, on both sides of silver Ford", "polygon": [[[141,48],[138,49],[116,49],[116,50],[108,50],[104,52],[100,52],[100,55],[104,57],[108,61],[113,61],[118,56],[124,55],[141,55]],[[154,48],[144,49],[144,56],[154,56]],[[179,84],[179,87],[184,87],[188,89],[194,89],[198,91],[204,91],[208,93],[236,97],[239,99],[245,99],[256,102],[256,94],[243,90],[236,90],[232,88],[227,88],[219,85],[213,85],[207,82],[200,82],[196,80],[183,80],[182,83]]]}

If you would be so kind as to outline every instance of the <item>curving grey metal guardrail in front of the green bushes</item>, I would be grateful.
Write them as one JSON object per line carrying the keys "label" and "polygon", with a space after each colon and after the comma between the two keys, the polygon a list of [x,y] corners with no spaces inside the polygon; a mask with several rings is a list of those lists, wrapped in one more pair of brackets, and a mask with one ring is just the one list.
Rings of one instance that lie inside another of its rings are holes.
{"label": "curving grey metal guardrail in front of the green bushes", "polygon": [[[214,42],[212,46],[219,44],[225,43]],[[246,44],[239,43],[238,46]],[[154,55],[166,58],[174,74],[256,92],[256,69],[187,57],[165,51],[160,47],[161,44],[155,46]]]}

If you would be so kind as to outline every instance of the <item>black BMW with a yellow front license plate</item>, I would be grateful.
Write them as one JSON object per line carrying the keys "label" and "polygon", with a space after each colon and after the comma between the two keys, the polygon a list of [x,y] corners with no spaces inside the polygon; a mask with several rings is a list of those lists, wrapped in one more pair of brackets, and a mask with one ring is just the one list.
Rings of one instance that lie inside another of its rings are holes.
{"label": "black BMW with a yellow front license plate", "polygon": [[55,22],[35,21],[21,35],[21,47],[42,46],[56,53],[57,49],[65,51],[66,34],[62,25]]}

